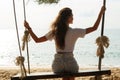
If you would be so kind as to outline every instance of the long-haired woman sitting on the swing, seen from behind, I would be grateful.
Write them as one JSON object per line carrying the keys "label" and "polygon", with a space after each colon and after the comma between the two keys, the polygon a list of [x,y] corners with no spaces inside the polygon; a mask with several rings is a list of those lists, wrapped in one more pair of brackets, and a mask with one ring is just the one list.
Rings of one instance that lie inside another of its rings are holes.
{"label": "long-haired woman sitting on the swing, seen from behind", "polygon": [[[97,30],[104,12],[105,7],[103,6],[95,24],[92,27],[86,29],[73,29],[69,27],[69,24],[73,23],[72,10],[70,8],[63,8],[58,13],[56,20],[52,23],[51,30],[40,38],[33,33],[26,21],[24,22],[24,26],[28,29],[36,43],[52,39],[55,41],[56,54],[52,64],[54,73],[76,73],[78,72],[79,67],[73,56],[75,42],[78,38],[83,38],[86,34]],[[63,80],[74,80],[74,77],[63,78]]]}

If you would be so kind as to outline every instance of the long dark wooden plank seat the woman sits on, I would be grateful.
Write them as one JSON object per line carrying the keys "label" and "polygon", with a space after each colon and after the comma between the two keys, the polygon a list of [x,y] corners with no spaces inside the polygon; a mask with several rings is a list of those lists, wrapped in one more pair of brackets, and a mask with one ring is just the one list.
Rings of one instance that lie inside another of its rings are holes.
{"label": "long dark wooden plank seat the woman sits on", "polygon": [[[85,76],[101,76],[101,75],[111,75],[111,70],[87,70],[79,71],[78,73],[60,73],[55,74],[53,72],[40,72],[40,73],[31,73],[27,75],[22,80],[36,80],[36,79],[52,79],[52,78],[63,78],[63,77],[85,77]],[[11,77],[11,80],[20,80],[20,75]],[[97,80],[97,79],[96,79]]]}

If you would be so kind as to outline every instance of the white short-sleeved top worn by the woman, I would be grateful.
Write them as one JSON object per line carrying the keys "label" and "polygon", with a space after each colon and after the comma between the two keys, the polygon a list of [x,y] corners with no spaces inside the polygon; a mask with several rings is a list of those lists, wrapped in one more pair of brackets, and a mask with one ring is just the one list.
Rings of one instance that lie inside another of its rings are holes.
{"label": "white short-sleeved top worn by the woman", "polygon": [[[69,28],[65,37],[65,48],[62,50],[56,47],[56,51],[57,52],[73,52],[76,40],[78,38],[83,38],[85,34],[86,34],[86,29]],[[48,40],[54,39],[54,36],[51,35],[51,31],[49,31],[45,36]]]}

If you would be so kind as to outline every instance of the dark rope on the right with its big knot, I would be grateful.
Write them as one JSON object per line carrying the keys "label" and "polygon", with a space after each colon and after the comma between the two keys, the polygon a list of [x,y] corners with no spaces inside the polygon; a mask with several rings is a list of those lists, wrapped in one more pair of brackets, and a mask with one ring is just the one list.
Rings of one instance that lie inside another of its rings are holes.
{"label": "dark rope on the right with its big knot", "polygon": [[[106,6],[106,0],[103,1],[103,5]],[[103,18],[102,18],[101,36],[96,39],[96,43],[98,45],[97,56],[99,56],[99,62],[98,62],[98,69],[99,70],[101,70],[102,58],[104,58],[104,53],[105,53],[104,47],[107,48],[109,46],[108,37],[103,36],[103,34],[104,34],[104,22],[105,22],[105,13],[103,13]]]}

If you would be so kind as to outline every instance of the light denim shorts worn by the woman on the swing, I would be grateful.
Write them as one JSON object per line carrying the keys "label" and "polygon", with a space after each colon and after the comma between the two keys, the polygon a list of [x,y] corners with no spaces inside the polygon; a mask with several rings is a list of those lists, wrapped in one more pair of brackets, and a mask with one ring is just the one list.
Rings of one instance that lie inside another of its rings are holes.
{"label": "light denim shorts worn by the woman on the swing", "polygon": [[79,66],[73,56],[73,53],[55,54],[52,63],[54,73],[77,73]]}

